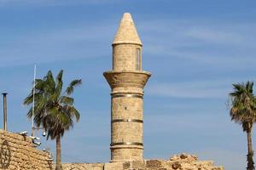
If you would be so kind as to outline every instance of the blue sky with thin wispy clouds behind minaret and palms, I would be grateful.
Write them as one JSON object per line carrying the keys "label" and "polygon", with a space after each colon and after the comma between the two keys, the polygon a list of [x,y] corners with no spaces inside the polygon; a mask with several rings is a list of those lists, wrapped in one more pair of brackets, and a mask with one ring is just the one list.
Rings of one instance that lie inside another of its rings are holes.
{"label": "blue sky with thin wispy clouds behind minaret and palms", "polygon": [[[143,70],[152,73],[144,97],[145,158],[189,152],[244,169],[246,134],[230,122],[226,102],[232,83],[255,80],[255,5],[0,0],[0,90],[9,93],[9,130],[31,126],[22,100],[32,88],[33,65],[37,77],[64,69],[66,85],[74,78],[83,85],[73,94],[81,119],[62,140],[62,160],[109,161],[110,88],[102,72],[112,68],[111,43],[122,14],[130,12],[143,41]],[[253,133],[253,150],[255,141]],[[55,152],[55,141],[43,139],[42,148]]]}

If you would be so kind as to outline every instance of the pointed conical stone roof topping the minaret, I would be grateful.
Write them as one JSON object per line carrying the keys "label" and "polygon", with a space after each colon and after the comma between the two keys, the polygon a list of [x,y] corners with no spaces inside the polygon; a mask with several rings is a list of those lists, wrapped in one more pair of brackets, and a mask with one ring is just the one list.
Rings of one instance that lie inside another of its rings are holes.
{"label": "pointed conical stone roof topping the minaret", "polygon": [[137,34],[137,30],[130,13],[125,13],[123,15],[112,44],[119,43],[135,43],[143,45]]}

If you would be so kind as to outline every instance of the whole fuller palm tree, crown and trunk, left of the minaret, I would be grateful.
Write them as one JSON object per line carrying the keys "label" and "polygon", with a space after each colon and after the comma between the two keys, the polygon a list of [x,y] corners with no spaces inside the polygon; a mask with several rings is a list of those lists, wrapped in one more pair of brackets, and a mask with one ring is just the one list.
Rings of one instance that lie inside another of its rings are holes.
{"label": "whole fuller palm tree, crown and trunk, left of the minaret", "polygon": [[[65,91],[62,91],[61,70],[54,79],[52,72],[48,71],[44,79],[35,80],[34,95],[34,122],[37,127],[43,127],[47,139],[56,140],[56,170],[61,170],[61,137],[65,131],[73,127],[73,121],[79,121],[79,111],[74,107],[74,99],[70,97],[73,89],[82,83],[81,79],[73,80]],[[31,105],[32,92],[24,99],[24,105]],[[32,108],[27,116],[32,117]]]}

